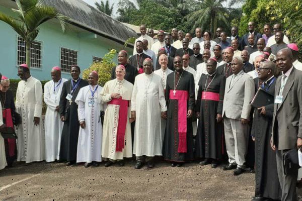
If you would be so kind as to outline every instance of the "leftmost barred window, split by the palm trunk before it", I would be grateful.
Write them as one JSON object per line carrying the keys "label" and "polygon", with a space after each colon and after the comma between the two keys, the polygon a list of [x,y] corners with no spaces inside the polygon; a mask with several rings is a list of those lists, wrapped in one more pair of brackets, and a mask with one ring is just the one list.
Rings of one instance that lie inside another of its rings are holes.
{"label": "leftmost barred window, split by the palm trunk before it", "polygon": [[[21,36],[18,36],[17,46],[17,66],[26,63],[26,44]],[[34,68],[42,67],[42,42],[34,41],[30,47],[30,66]]]}

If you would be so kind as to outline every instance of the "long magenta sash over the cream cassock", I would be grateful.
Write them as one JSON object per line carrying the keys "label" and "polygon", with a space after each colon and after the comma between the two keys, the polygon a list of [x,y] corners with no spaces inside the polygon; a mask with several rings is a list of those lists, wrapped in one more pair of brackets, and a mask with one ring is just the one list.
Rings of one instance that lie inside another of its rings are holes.
{"label": "long magenta sash over the cream cassock", "polygon": [[122,152],[123,148],[125,147],[125,133],[127,126],[129,100],[123,100],[122,97],[112,98],[112,100],[108,102],[108,105],[120,106],[118,114],[115,151]]}

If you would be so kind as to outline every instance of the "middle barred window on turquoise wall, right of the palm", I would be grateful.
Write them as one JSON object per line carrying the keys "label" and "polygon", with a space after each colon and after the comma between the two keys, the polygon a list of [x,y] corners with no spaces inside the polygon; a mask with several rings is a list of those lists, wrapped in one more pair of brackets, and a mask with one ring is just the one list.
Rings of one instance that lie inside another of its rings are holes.
{"label": "middle barred window on turquoise wall, right of the palm", "polygon": [[70,72],[70,67],[78,64],[78,51],[61,47],[60,63],[63,72]]}

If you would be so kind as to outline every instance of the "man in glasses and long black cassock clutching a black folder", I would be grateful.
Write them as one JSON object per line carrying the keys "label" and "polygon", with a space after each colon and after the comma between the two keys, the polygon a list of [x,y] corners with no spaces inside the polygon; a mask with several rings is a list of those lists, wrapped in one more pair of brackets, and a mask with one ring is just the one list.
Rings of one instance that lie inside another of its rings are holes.
{"label": "man in glasses and long black cassock clutching a black folder", "polygon": [[256,166],[255,196],[252,200],[281,198],[276,154],[270,149],[276,84],[275,69],[274,62],[265,61],[257,69],[258,77],[254,79],[258,92],[251,103],[255,108],[251,135],[255,141]]}

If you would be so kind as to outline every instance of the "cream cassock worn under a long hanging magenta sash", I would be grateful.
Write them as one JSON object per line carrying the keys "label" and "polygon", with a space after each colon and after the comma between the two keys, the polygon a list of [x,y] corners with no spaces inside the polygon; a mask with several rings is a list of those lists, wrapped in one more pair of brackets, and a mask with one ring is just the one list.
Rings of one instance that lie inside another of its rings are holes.
{"label": "cream cassock worn under a long hanging magenta sash", "polygon": [[[101,99],[108,103],[112,100],[111,93],[120,93],[122,99],[131,100],[133,84],[123,79],[117,79],[106,82],[101,91]],[[104,125],[103,125],[103,142],[102,142],[102,157],[111,160],[122,160],[124,157],[132,157],[132,139],[131,125],[129,122],[130,108],[128,106],[127,124],[125,132],[125,146],[122,152],[116,152],[116,136],[118,127],[119,106],[107,105],[105,109]]]}

